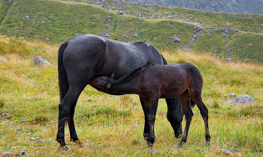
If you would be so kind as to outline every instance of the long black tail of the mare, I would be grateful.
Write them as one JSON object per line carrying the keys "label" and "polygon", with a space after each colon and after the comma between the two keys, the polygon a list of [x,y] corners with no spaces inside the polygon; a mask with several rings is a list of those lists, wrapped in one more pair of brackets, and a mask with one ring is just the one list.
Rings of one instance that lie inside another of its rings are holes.
{"label": "long black tail of the mare", "polygon": [[58,86],[60,102],[63,100],[68,92],[68,77],[63,64],[63,52],[68,45],[68,41],[60,45],[58,49]]}

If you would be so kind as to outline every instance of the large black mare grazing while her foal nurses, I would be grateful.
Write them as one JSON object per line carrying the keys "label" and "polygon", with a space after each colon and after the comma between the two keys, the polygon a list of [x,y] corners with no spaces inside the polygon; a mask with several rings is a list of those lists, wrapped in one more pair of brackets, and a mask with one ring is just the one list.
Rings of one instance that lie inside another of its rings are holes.
{"label": "large black mare grazing while her foal nurses", "polygon": [[[78,139],[74,124],[74,112],[79,95],[95,77],[110,77],[118,71],[119,78],[141,67],[145,63],[167,64],[160,52],[146,41],[122,43],[99,36],[84,34],[67,40],[58,50],[58,84],[60,104],[58,105],[57,141],[60,147],[69,150],[65,143],[65,120],[68,121],[70,140],[82,146]],[[103,90],[100,90],[103,91]],[[112,94],[110,91],[106,92]],[[140,98],[144,112],[145,124],[143,137],[148,139],[150,126],[143,99]],[[174,136],[182,135],[184,111],[177,98],[166,99],[167,119],[174,129]]]}

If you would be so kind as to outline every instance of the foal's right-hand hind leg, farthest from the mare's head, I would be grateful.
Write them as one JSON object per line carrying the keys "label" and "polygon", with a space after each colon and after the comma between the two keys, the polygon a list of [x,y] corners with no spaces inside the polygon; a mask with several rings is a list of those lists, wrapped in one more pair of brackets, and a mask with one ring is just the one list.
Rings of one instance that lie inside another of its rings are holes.
{"label": "foal's right-hand hind leg, farthest from the mare's head", "polygon": [[201,93],[198,91],[195,92],[189,92],[193,102],[197,105],[198,109],[200,110],[200,114],[202,115],[202,118],[205,123],[205,140],[206,144],[210,145],[210,133],[208,128],[208,109],[205,107],[205,104],[202,101]]}

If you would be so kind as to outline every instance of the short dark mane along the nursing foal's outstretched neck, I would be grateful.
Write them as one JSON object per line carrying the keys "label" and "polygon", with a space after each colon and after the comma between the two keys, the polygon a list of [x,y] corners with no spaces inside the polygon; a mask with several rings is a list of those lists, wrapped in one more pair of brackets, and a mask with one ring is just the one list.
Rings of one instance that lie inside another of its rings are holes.
{"label": "short dark mane along the nursing foal's outstretched neck", "polygon": [[118,84],[120,82],[122,83],[126,83],[126,82],[129,82],[130,80],[132,80],[134,77],[138,76],[136,74],[140,73],[141,71],[143,71],[144,69],[150,67],[150,66],[153,66],[155,64],[150,64],[149,61],[147,61],[145,64],[143,64],[142,66],[140,66],[139,68],[131,71],[130,73],[128,73],[127,75],[124,75],[120,78],[118,78],[117,80],[112,80],[110,81],[111,84]]}

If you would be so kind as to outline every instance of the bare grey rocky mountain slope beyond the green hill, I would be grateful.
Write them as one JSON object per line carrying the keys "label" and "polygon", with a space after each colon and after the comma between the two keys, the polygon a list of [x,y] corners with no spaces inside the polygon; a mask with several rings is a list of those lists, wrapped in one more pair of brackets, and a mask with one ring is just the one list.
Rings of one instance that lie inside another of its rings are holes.
{"label": "bare grey rocky mountain slope beyond the green hill", "polygon": [[127,2],[216,11],[224,13],[263,14],[263,0],[124,0]]}

